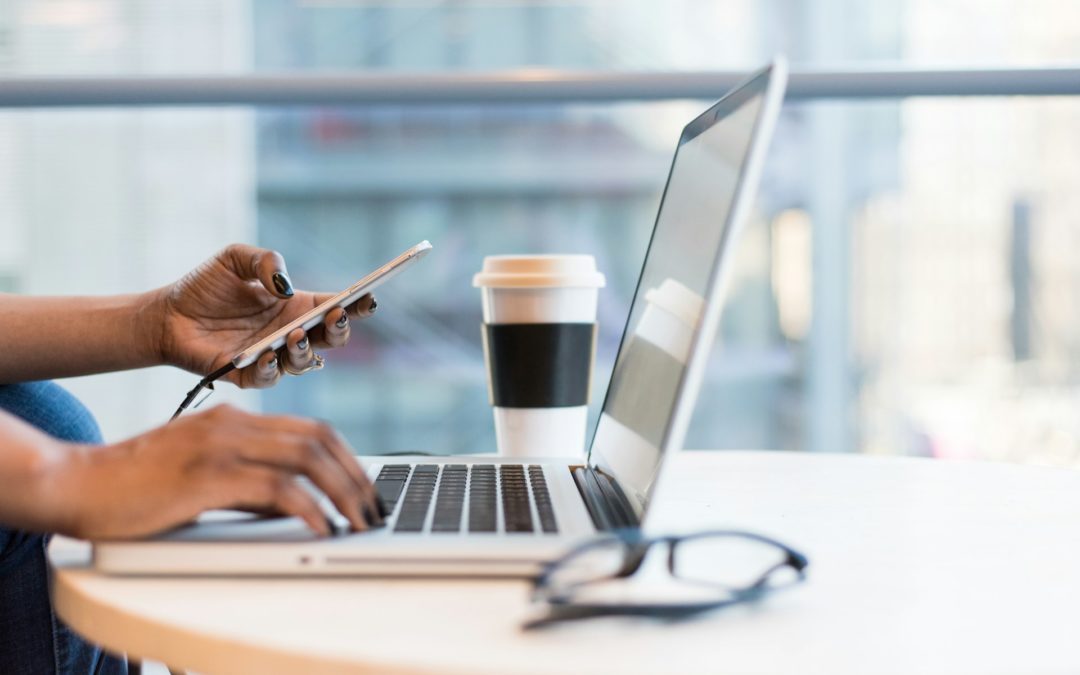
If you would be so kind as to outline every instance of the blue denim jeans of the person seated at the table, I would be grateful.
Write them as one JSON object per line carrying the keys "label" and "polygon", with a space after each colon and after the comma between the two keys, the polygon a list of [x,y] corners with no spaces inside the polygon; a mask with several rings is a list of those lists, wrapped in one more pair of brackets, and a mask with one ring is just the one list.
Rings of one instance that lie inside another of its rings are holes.
{"label": "blue denim jeans of the person seated at the table", "polygon": [[[90,411],[53,382],[0,384],[0,409],[65,441],[102,442]],[[56,617],[49,599],[48,544],[48,535],[0,525],[0,673],[126,673],[122,658],[83,642]]]}

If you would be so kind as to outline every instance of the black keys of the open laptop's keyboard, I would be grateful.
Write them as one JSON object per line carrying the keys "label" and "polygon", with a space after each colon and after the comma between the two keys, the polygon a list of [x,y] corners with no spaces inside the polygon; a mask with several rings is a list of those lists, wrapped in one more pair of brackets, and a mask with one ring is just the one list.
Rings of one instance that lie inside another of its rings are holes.
{"label": "black keys of the open laptop's keyboard", "polygon": [[387,464],[375,489],[394,532],[498,532],[500,515],[504,532],[558,531],[536,464]]}

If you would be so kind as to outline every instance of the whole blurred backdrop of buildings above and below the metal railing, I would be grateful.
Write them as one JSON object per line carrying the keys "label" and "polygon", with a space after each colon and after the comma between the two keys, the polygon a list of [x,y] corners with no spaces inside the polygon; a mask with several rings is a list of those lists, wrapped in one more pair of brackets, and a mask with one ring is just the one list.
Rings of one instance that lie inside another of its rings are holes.
{"label": "whole blurred backdrop of buildings above and below the metal railing", "polygon": [[[1055,0],[12,0],[0,73],[1039,66],[1080,58]],[[717,95],[721,92],[717,92]],[[492,447],[472,273],[584,252],[606,386],[678,131],[707,102],[0,111],[0,291],[119,293],[217,247],[337,288],[415,243],[334,367],[244,405],[363,451]],[[689,445],[1080,461],[1080,102],[791,103],[740,243]],[[78,318],[71,320],[77,321]],[[106,435],[192,377],[81,378]]]}

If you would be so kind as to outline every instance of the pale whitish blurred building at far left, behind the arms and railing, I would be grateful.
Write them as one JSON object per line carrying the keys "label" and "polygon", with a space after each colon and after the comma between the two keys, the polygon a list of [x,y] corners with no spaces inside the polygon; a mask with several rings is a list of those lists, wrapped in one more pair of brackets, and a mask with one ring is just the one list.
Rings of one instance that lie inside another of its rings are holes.
{"label": "pale whitish blurred building at far left, behind the arms and railing", "polygon": [[[249,21],[245,4],[211,0],[12,0],[0,3],[0,73],[243,70]],[[237,109],[0,110],[0,292],[146,291],[255,239],[251,120]],[[173,368],[64,382],[111,440],[167,420],[193,383]],[[230,399],[257,405],[221,388]]]}

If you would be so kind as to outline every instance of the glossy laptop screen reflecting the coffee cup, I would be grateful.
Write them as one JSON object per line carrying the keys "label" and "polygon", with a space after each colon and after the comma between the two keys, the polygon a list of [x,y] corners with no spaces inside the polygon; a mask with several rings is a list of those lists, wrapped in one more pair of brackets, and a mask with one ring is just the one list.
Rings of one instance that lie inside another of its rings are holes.
{"label": "glossy laptop screen reflecting the coffee cup", "polygon": [[660,202],[589,456],[618,480],[638,516],[672,449],[665,443],[676,403],[693,405],[684,375],[720,254],[738,227],[732,205],[769,76],[753,78],[686,126]]}

